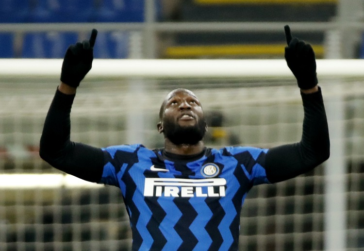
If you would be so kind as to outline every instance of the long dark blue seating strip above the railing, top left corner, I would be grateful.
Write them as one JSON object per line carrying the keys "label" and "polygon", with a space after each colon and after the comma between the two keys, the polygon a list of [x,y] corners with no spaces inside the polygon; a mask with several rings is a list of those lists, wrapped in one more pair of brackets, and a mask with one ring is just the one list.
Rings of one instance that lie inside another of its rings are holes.
{"label": "long dark blue seating strip above the railing, top left corner", "polygon": [[144,0],[0,0],[0,23],[143,21]]}

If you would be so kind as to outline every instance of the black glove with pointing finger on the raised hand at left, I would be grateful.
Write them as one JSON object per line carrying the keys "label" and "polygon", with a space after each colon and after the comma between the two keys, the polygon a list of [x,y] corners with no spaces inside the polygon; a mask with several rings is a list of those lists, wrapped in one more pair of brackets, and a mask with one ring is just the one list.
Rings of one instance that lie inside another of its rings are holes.
{"label": "black glove with pointing finger on the raised hand at left", "polygon": [[63,59],[61,81],[72,87],[78,87],[81,80],[92,67],[94,45],[98,31],[93,29],[90,40],[77,42],[68,47]]}

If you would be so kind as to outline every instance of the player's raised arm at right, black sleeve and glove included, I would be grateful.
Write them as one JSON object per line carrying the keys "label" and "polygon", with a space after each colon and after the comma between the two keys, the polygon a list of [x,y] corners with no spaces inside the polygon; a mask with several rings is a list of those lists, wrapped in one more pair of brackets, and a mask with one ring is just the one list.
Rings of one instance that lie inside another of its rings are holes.
{"label": "player's raised arm at right, black sleeve and glove included", "polygon": [[265,170],[270,182],[294,178],[317,167],[330,156],[330,139],[321,88],[317,85],[314,50],[310,44],[292,38],[284,27],[287,47],[285,59],[295,75],[304,109],[302,137],[298,143],[268,150]]}

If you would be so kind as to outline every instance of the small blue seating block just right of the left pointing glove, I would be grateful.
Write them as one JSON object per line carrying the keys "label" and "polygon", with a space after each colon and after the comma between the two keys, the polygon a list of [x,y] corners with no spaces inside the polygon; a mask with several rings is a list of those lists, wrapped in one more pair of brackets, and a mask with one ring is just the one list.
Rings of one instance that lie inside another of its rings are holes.
{"label": "small blue seating block just right of the left pointing glove", "polygon": [[99,32],[95,47],[95,58],[128,58],[129,32]]}

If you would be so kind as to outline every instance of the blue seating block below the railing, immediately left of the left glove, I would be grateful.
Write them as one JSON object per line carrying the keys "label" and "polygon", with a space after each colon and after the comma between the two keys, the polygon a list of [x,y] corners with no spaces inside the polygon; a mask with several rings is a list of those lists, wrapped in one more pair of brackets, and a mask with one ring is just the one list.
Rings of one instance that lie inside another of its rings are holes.
{"label": "blue seating block below the railing, immediately left of the left glove", "polygon": [[63,58],[67,48],[78,41],[78,33],[47,32],[24,35],[21,57]]}

